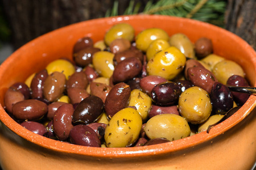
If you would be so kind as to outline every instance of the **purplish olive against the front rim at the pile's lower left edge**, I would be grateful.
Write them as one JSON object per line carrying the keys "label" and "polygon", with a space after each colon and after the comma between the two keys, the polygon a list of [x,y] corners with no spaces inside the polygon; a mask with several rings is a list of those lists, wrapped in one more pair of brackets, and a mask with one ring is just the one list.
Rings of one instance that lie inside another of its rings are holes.
{"label": "purplish olive against the front rim at the pile's lower left edge", "polygon": [[44,126],[43,124],[40,124],[39,122],[25,121],[25,122],[22,122],[20,125],[26,128],[27,130],[30,130],[42,136],[47,133],[46,126]]}

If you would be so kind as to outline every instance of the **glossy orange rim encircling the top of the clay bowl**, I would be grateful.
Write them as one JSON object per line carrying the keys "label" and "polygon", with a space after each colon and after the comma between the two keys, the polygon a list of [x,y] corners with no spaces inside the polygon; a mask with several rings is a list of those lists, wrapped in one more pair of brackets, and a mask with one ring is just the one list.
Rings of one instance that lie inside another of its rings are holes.
{"label": "glossy orange rim encircling the top of the clay bowl", "polygon": [[[75,23],[71,25],[67,25],[65,27],[56,29],[55,31],[51,31],[49,33],[46,33],[27,44],[23,45],[21,48],[16,50],[13,54],[11,54],[10,57],[16,56],[19,52],[19,50],[22,50],[24,46],[28,46],[31,43],[34,43],[36,41],[40,41],[42,37],[45,36],[51,36],[55,35],[57,31],[64,30],[70,27],[73,27],[73,25],[80,25],[80,24],[89,24],[92,22],[101,22],[101,20],[109,21],[109,22],[116,22],[118,20],[132,20],[134,18],[139,19],[172,19],[172,20],[184,20],[185,22],[193,23],[193,24],[200,24],[204,25],[205,27],[212,27],[213,29],[216,29],[220,33],[226,33],[228,36],[232,36],[232,38],[238,42],[240,42],[243,45],[244,49],[241,50],[249,50],[248,53],[251,54],[251,56],[255,56],[254,58],[254,66],[256,67],[256,53],[253,48],[251,48],[250,45],[247,44],[246,41],[242,40],[237,35],[234,35],[234,33],[226,31],[223,28],[217,27],[215,25],[200,22],[198,20],[193,19],[187,19],[187,18],[180,18],[176,16],[164,16],[164,15],[123,15],[123,16],[113,16],[108,18],[100,18],[100,19],[92,19],[87,20],[80,23]],[[0,74],[2,74],[2,66],[10,64],[10,57],[6,59],[0,66]],[[256,82],[254,86],[256,85]],[[206,141],[209,141],[217,135],[220,135],[222,133],[225,133],[225,131],[231,129],[233,126],[240,123],[256,106],[256,96],[250,96],[249,99],[246,102],[246,105],[243,105],[235,114],[233,114],[232,117],[228,118],[227,120],[221,122],[221,124],[218,124],[217,126],[214,126],[210,130],[210,132],[207,134],[206,131],[192,135],[191,137],[179,139],[177,141],[172,141],[168,143],[162,143],[159,145],[152,145],[152,146],[144,146],[144,147],[127,147],[127,148],[97,148],[97,147],[86,147],[86,146],[79,146],[79,145],[73,145],[70,143],[65,143],[61,141],[55,141],[53,139],[49,139],[46,137],[42,137],[41,135],[34,134],[32,131],[29,131],[25,128],[22,128],[17,122],[13,120],[5,112],[3,107],[0,107],[0,120],[9,128],[11,131],[13,131],[15,134],[18,134],[20,137],[26,139],[27,141],[30,141],[32,143],[35,143],[36,145],[39,145],[44,148],[48,148],[50,150],[59,151],[59,152],[66,152],[66,153],[72,153],[72,154],[79,154],[79,155],[87,155],[87,156],[94,156],[97,158],[131,158],[136,156],[150,156],[152,153],[154,155],[158,154],[166,154],[168,152],[175,152],[178,150],[184,150],[185,148],[193,147],[196,145],[199,145],[201,143],[204,143]]]}

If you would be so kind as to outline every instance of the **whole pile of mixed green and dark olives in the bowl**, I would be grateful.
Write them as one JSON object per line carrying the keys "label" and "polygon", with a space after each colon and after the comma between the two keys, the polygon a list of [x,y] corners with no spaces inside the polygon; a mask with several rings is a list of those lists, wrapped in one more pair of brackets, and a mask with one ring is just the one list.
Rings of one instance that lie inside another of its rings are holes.
{"label": "whole pile of mixed green and dark olives in the bowl", "polygon": [[205,131],[249,97],[226,87],[249,84],[207,37],[192,43],[160,28],[135,36],[119,23],[101,41],[81,37],[72,56],[6,91],[6,112],[21,126],[75,145],[148,146]]}

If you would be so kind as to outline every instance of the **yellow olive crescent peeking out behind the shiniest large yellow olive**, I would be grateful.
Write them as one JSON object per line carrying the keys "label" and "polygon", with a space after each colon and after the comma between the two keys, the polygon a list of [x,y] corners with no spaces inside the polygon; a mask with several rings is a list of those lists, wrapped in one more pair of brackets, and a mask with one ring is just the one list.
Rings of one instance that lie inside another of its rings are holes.
{"label": "yellow olive crescent peeking out behind the shiniest large yellow olive", "polygon": [[147,61],[154,58],[155,54],[167,49],[170,46],[169,42],[163,39],[157,39],[151,42],[151,44],[147,48],[146,56]]}

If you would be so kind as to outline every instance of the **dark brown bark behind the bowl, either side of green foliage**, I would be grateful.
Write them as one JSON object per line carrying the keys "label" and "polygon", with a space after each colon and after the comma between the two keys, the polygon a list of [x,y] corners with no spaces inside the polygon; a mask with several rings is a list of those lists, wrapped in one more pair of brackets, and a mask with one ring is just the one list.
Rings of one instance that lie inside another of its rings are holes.
{"label": "dark brown bark behind the bowl, either side of green foliage", "polygon": [[[130,1],[118,2],[119,13],[123,14]],[[136,0],[135,3],[137,2],[143,8],[148,0]],[[256,49],[256,1],[227,2],[225,28]],[[113,3],[114,0],[0,0],[11,27],[11,42],[15,49],[53,29],[104,17],[106,11],[113,7]]]}

